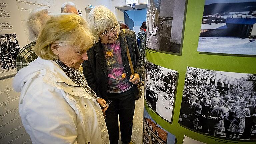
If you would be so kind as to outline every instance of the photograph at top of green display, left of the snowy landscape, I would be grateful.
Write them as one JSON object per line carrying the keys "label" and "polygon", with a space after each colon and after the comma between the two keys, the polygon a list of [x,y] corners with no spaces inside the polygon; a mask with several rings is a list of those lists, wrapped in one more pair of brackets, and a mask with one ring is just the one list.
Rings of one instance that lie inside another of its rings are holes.
{"label": "photograph at top of green display, left of the snowy landscape", "polygon": [[181,54],[186,0],[148,0],[147,48]]}

